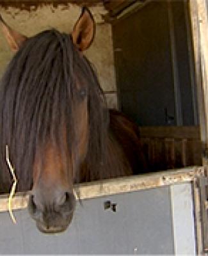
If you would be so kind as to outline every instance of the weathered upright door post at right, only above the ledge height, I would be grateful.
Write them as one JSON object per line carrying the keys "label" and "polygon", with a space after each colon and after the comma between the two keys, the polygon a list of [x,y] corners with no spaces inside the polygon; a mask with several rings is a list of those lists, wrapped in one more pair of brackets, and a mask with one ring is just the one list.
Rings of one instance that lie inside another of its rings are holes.
{"label": "weathered upright door post at right, only above the ledge height", "polygon": [[204,165],[208,164],[208,20],[207,1],[189,1],[189,14],[193,35],[196,84],[200,111],[200,137],[204,154]]}

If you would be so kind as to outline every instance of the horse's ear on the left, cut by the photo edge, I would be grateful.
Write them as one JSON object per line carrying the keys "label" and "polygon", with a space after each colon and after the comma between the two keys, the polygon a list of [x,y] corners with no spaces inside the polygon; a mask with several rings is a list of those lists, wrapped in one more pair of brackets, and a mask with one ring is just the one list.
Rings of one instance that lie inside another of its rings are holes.
{"label": "horse's ear on the left, cut by the photo edge", "polygon": [[18,51],[22,43],[27,39],[26,36],[21,35],[17,31],[13,30],[4,22],[3,18],[0,15],[0,25],[3,30],[4,36],[8,44],[10,45],[12,51]]}

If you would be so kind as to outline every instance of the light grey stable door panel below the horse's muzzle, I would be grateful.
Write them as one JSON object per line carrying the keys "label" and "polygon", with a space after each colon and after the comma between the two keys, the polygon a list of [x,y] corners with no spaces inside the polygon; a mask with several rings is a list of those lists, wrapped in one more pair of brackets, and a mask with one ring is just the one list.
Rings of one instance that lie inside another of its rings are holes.
{"label": "light grey stable door panel below the horse's muzzle", "polygon": [[[104,201],[116,203],[116,212],[104,210]],[[27,210],[0,214],[0,254],[173,254],[169,188],[148,189],[83,200],[77,204],[67,232],[38,232]]]}

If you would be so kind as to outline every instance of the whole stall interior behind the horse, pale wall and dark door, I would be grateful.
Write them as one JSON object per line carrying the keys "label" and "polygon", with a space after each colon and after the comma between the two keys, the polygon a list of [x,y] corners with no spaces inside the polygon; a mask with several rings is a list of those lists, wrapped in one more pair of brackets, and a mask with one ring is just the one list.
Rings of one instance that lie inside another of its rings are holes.
{"label": "whole stall interior behind the horse, pale wall and dark door", "polygon": [[[31,36],[70,32],[81,6],[90,8],[97,34],[86,56],[109,108],[140,129],[148,172],[202,165],[189,1],[6,1],[4,20]],[[0,74],[12,58],[0,34]]]}

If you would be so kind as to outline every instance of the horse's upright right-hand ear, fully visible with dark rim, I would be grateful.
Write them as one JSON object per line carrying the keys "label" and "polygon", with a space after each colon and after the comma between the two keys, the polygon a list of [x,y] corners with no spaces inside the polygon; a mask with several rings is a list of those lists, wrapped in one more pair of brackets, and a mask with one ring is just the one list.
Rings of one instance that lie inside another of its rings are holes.
{"label": "horse's upright right-hand ear, fully visible with dark rim", "polygon": [[95,36],[95,20],[88,8],[83,7],[81,15],[72,31],[72,40],[79,51],[90,47]]}

